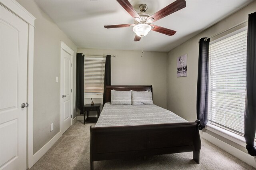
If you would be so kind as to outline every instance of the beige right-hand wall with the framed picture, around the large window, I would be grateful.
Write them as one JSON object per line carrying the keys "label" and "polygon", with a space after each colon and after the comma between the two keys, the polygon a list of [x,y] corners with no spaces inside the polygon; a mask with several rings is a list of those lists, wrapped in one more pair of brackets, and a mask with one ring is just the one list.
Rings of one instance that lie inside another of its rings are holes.
{"label": "beige right-hand wall with the framed picture, around the large window", "polygon": [[[198,41],[203,37],[211,37],[219,32],[227,30],[245,20],[248,14],[256,11],[256,1],[245,8],[218,22],[204,32],[182,43],[168,53],[168,109],[188,121],[196,120],[196,88],[198,74]],[[233,29],[235,30],[235,29]],[[223,35],[222,35],[223,36]],[[214,38],[216,39],[216,38]],[[212,38],[213,40],[213,38]],[[176,76],[176,58],[180,55],[188,55],[188,76]],[[207,132],[207,131],[206,131]],[[210,132],[209,132],[210,133]],[[211,134],[212,135],[212,134]],[[213,135],[218,137],[216,135]],[[221,138],[219,138],[222,140]],[[234,145],[231,141],[228,142]],[[236,146],[240,148],[240,146]]]}

